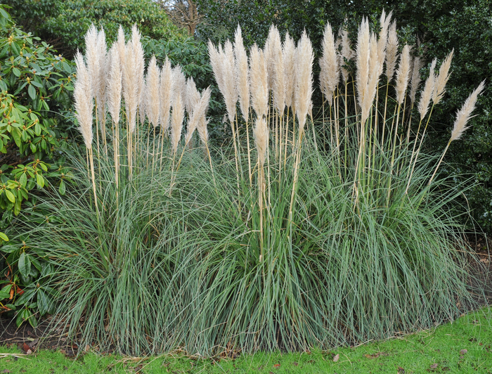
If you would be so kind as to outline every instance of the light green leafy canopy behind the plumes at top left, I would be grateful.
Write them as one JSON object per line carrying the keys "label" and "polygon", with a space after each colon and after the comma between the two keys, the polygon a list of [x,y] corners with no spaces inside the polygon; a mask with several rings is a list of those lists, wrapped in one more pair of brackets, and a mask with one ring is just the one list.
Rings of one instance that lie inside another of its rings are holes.
{"label": "light green leafy canopy behind the plumes at top left", "polygon": [[119,25],[126,32],[136,23],[153,39],[183,39],[166,12],[152,0],[6,0],[19,25],[48,41],[60,53],[72,56],[84,46],[84,34],[94,23],[103,27],[109,42]]}

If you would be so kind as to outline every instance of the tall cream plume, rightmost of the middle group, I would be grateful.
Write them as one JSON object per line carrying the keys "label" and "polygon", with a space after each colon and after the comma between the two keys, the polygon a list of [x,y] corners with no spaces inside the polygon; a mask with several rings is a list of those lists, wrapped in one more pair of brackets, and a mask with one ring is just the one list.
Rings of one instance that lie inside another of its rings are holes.
{"label": "tall cream plume, rightmost of the middle group", "polygon": [[311,105],[311,95],[313,94],[313,59],[313,46],[311,46],[311,41],[306,34],[306,30],[304,30],[296,49],[297,80],[295,106],[297,120],[299,120],[299,133],[302,133],[304,130],[306,116]]}

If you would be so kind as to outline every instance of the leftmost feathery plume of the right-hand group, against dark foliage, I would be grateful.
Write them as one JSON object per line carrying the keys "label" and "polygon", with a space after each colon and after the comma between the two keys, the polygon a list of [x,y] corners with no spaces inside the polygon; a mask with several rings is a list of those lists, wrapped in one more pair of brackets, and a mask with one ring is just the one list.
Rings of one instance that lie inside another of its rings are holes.
{"label": "leftmost feathery plume of the right-hand group, against dark foliage", "polygon": [[325,26],[323,33],[323,56],[319,60],[321,67],[320,86],[326,100],[332,105],[333,92],[337,88],[340,79],[337,50],[335,49],[335,37],[330,23]]}

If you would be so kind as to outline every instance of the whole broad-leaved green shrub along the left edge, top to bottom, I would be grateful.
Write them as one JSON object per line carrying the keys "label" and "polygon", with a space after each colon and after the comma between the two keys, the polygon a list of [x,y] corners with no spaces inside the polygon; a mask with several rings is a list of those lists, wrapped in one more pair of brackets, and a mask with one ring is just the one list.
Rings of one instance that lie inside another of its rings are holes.
{"label": "whole broad-leaved green shrub along the left edge, top to bottom", "polygon": [[[21,209],[46,221],[36,195],[47,182],[65,193],[70,173],[56,156],[67,140],[75,69],[54,53],[15,27],[0,6],[0,228],[22,226],[15,218]],[[52,308],[52,292],[44,287],[52,267],[24,240],[4,241],[0,236],[0,313],[18,312],[18,324],[36,325]]]}

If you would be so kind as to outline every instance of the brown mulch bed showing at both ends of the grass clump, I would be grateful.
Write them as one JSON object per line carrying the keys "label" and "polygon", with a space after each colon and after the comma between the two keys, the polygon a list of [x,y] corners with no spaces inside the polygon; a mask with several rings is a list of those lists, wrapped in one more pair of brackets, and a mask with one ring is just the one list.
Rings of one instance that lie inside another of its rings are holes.
{"label": "brown mulch bed showing at both ends of the grass clump", "polygon": [[[468,235],[467,241],[475,252],[475,260],[471,259],[469,283],[472,286],[485,285],[483,294],[475,295],[480,306],[492,305],[492,236]],[[66,335],[53,332],[50,323],[53,316],[42,318],[37,328],[23,323],[20,328],[15,319],[0,315],[0,345],[16,345],[21,352],[30,354],[36,349],[58,349],[69,357],[76,356],[79,347],[67,340]],[[110,352],[108,352],[110,353]]]}

